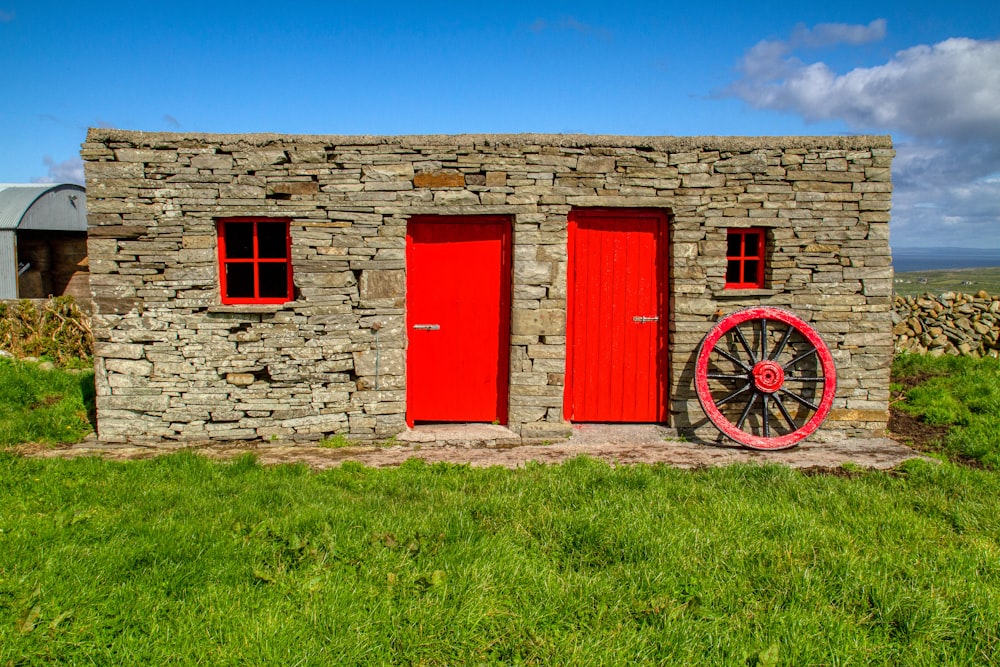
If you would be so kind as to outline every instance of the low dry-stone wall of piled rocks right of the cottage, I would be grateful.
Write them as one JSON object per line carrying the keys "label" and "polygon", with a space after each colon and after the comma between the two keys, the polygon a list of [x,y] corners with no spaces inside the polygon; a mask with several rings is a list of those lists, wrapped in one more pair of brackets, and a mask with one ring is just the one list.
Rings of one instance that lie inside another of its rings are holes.
{"label": "low dry-stone wall of piled rocks right of the cottage", "polygon": [[896,296],[894,306],[897,353],[1000,357],[1000,296]]}

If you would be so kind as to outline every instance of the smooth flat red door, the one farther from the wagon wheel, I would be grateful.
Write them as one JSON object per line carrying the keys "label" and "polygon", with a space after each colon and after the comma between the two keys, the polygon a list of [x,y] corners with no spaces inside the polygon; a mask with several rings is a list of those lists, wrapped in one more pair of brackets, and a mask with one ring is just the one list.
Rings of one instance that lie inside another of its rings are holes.
{"label": "smooth flat red door, the one farther from the wagon wheel", "polygon": [[421,216],[406,228],[406,419],[507,423],[510,221]]}

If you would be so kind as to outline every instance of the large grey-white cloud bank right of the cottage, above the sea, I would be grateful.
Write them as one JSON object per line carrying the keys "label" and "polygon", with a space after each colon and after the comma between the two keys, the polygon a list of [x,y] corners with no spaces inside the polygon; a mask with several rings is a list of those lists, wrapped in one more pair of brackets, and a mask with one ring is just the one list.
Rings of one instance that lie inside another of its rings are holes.
{"label": "large grey-white cloud bank right of the cottage, above the sea", "polygon": [[727,92],[758,109],[895,135],[898,245],[1000,246],[1000,41],[956,37],[843,74],[796,55],[884,34],[882,20],[797,27],[788,40],[751,48]]}

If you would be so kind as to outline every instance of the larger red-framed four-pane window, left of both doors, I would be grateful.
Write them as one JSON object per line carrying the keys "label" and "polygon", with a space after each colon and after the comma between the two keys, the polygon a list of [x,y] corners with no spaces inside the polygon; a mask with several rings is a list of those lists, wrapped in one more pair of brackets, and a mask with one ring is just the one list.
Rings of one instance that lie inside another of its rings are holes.
{"label": "larger red-framed four-pane window, left of both doors", "polygon": [[222,303],[292,300],[292,237],[287,220],[227,218],[219,221]]}

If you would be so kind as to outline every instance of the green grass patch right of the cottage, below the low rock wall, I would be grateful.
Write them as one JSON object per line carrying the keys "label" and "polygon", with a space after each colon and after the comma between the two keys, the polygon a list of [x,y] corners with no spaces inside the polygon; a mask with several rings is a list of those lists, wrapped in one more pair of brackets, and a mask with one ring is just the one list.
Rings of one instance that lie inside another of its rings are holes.
{"label": "green grass patch right of the cottage, below the low rock wall", "polygon": [[907,378],[921,381],[898,408],[929,425],[950,427],[941,442],[946,454],[1000,469],[1000,361],[902,355],[893,379],[906,384]]}

